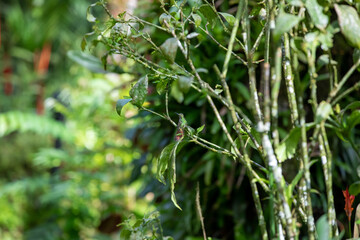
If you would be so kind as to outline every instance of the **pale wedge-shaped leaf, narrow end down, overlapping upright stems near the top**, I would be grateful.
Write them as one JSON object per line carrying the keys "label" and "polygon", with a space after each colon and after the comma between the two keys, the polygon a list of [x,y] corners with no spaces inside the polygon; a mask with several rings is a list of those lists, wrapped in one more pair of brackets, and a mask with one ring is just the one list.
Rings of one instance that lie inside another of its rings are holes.
{"label": "pale wedge-shaped leaf, narrow end down, overlapping upright stems near the top", "polygon": [[276,26],[274,29],[274,40],[278,41],[282,34],[289,32],[294,26],[298,25],[302,20],[301,17],[292,14],[285,13],[284,10],[280,10],[278,17],[276,18]]}

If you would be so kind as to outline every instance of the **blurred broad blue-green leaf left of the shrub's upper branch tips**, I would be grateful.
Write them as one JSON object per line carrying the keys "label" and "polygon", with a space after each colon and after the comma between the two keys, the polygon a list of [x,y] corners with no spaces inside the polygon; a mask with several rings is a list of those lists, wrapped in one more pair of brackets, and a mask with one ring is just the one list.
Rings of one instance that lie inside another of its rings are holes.
{"label": "blurred broad blue-green leaf left of the shrub's upper branch tips", "polygon": [[102,62],[98,58],[90,54],[86,54],[81,51],[68,51],[67,56],[74,62],[82,65],[83,67],[86,67],[92,72],[106,73],[103,68]]}

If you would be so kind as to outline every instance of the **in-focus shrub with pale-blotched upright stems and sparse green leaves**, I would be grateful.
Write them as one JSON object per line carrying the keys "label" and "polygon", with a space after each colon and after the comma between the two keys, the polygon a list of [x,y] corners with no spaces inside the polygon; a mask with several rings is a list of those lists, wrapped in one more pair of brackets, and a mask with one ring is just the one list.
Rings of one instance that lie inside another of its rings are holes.
{"label": "in-focus shrub with pale-blotched upright stems and sparse green leaves", "polygon": [[[175,140],[167,142],[158,157],[156,172],[162,183],[169,183],[170,198],[177,208],[194,200],[178,200],[178,179],[191,176],[199,180],[204,174],[205,181],[221,181],[212,178],[214,168],[209,164],[211,158],[220,156],[243,166],[260,238],[339,238],[333,163],[340,165],[341,161],[334,158],[333,153],[339,151],[330,143],[349,142],[351,148],[341,146],[359,152],[353,138],[358,133],[354,127],[359,106],[344,101],[353,98],[359,85],[353,77],[360,65],[359,4],[245,0],[230,9],[230,3],[222,7],[215,1],[175,0],[155,5],[161,9],[156,18],[124,12],[117,17],[109,14],[106,22],[92,14],[96,6],[108,12],[104,1],[88,8],[87,19],[94,23],[94,31],[84,37],[83,49],[102,43],[108,50],[103,59],[125,56],[137,63],[143,75],[130,97],[118,101],[117,112],[131,102],[153,114],[156,120],[152,123],[167,121],[177,128]],[[227,12],[234,9],[235,15]],[[353,62],[339,67],[339,60],[344,60],[339,46],[353,53]],[[244,104],[244,99],[249,103]],[[350,116],[344,120],[347,110]],[[203,113],[199,114],[201,124],[189,120],[191,111]],[[180,124],[175,112],[182,114]],[[215,133],[221,133],[221,138],[214,137]],[[186,158],[192,156],[188,153],[182,159],[178,157],[181,147],[188,151],[202,147],[203,157]],[[193,176],[194,170],[187,169],[181,171],[187,175],[177,174],[190,161],[193,168],[198,163],[202,172]],[[346,170],[344,165],[337,169],[340,174]],[[292,174],[288,167],[295,168]],[[314,186],[321,190],[321,200],[312,194]],[[316,225],[313,205],[322,205],[321,212],[326,214],[316,217],[321,220]],[[205,216],[205,223],[207,220],[213,221]],[[234,232],[241,239],[241,231]]]}

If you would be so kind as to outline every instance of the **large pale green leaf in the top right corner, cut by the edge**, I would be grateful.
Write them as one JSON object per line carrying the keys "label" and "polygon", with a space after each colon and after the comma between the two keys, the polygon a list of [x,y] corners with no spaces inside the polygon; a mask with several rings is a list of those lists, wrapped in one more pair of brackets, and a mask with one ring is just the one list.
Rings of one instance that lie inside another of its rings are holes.
{"label": "large pale green leaf in the top right corner, cut by the edge", "polygon": [[353,7],[335,4],[340,29],[346,40],[353,47],[360,48],[360,19]]}

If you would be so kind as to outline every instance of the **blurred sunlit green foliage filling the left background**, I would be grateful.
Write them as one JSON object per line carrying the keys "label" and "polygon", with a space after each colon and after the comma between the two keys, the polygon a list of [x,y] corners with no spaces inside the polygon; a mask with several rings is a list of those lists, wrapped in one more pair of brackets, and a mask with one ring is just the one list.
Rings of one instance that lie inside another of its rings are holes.
{"label": "blurred sunlit green foliage filling the left background", "polygon": [[[104,75],[74,57],[89,31],[88,4],[0,3],[2,240],[113,239],[130,214],[154,210],[137,200],[141,182],[129,182],[141,154],[124,135],[137,121],[114,112],[130,76]],[[40,69],[44,46],[51,55]]]}

